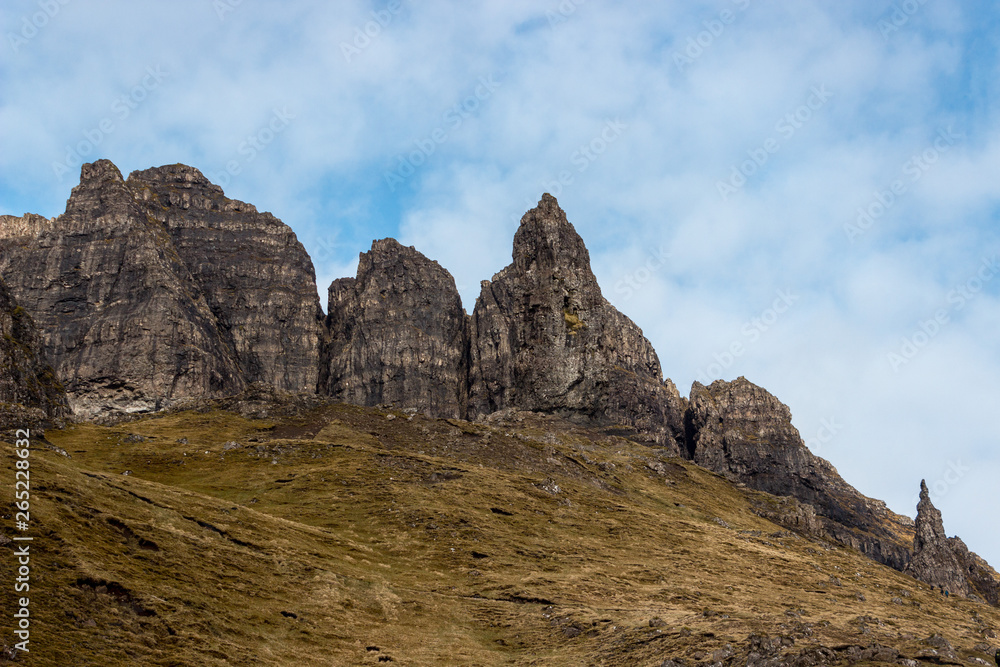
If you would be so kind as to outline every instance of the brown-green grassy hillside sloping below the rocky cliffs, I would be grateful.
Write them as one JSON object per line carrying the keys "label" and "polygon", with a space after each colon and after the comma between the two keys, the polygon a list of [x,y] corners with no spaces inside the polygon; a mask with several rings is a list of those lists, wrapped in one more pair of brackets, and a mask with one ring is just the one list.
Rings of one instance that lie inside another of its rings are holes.
{"label": "brown-green grassy hillside sloping below the rocky cliffs", "polygon": [[71,457],[32,452],[26,664],[658,665],[751,633],[910,656],[940,633],[992,660],[973,649],[1000,628],[996,609],[783,531],[759,494],[566,424],[335,405],[47,437]]}

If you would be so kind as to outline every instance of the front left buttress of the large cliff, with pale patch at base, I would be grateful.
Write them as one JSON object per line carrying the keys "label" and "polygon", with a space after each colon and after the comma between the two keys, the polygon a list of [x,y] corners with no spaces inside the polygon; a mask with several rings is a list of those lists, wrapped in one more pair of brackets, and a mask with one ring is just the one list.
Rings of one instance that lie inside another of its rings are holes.
{"label": "front left buttress of the large cliff, with pale patch at base", "polygon": [[243,387],[169,234],[107,160],[83,165],[63,215],[4,226],[0,272],[81,416]]}

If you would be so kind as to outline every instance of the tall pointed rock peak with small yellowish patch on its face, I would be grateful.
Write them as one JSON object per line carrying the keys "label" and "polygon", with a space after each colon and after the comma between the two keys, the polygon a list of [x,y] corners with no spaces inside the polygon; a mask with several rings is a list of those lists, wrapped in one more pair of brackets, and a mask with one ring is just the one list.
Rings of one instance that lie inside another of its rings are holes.
{"label": "tall pointed rock peak with small yellowish patch on its face", "polygon": [[548,194],[521,218],[513,263],[483,281],[472,315],[469,412],[507,408],[627,426],[679,452],[683,400],[639,327],[601,294]]}

